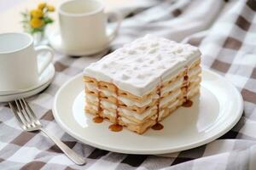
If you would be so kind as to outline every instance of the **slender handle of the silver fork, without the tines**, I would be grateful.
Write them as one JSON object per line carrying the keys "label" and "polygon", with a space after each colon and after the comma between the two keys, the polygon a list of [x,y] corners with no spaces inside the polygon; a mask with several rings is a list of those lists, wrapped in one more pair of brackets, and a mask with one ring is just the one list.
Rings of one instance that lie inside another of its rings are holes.
{"label": "slender handle of the silver fork, without the tines", "polygon": [[49,139],[51,139],[65,154],[69,159],[71,159],[74,163],[78,165],[84,165],[86,163],[84,157],[79,156],[76,152],[71,150],[67,144],[64,144],[60,139],[56,138],[54,135],[48,133],[43,128],[40,128],[40,130],[46,134]]}

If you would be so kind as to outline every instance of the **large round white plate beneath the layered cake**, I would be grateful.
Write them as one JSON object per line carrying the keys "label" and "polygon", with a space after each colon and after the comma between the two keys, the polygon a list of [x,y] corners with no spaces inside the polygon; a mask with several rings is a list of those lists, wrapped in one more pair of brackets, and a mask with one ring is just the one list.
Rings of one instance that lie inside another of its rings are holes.
{"label": "large round white plate beneath the layered cake", "polygon": [[74,138],[103,150],[128,154],[165,154],[207,144],[227,133],[241,117],[241,94],[224,77],[203,70],[201,94],[190,108],[180,107],[161,122],[164,129],[149,129],[143,135],[126,129],[108,130],[109,122],[92,122],[84,114],[82,75],[73,77],[55,95],[56,122]]}

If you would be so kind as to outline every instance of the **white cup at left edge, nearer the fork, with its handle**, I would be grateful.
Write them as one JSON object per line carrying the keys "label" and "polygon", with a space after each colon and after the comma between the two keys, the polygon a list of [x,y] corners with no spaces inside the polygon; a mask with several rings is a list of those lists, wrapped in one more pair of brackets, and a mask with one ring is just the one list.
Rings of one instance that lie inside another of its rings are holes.
{"label": "white cup at left edge, nearer the fork, with its handle", "polygon": [[[38,63],[38,54],[45,55]],[[31,88],[51,63],[54,52],[47,46],[33,47],[33,38],[26,33],[0,34],[0,91]]]}

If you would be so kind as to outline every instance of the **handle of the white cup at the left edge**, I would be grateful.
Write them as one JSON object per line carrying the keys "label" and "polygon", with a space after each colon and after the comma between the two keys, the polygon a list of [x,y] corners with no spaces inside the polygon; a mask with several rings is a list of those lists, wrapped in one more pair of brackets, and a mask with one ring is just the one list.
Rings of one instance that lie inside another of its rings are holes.
{"label": "handle of the white cup at the left edge", "polygon": [[47,56],[46,59],[44,59],[43,64],[41,64],[40,68],[38,68],[38,74],[41,75],[44,72],[44,70],[47,68],[47,66],[51,63],[55,53],[52,48],[49,48],[48,46],[45,46],[45,45],[35,47],[35,50],[37,54],[49,52],[49,55]]}

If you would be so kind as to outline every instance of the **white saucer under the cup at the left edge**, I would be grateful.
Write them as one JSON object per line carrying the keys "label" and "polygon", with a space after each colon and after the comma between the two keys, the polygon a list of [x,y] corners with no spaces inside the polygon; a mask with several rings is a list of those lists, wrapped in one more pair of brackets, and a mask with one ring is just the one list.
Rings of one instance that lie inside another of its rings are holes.
{"label": "white saucer under the cup at the left edge", "polygon": [[8,102],[19,98],[26,98],[30,97],[34,94],[38,94],[44,88],[47,88],[52,82],[53,78],[55,76],[55,67],[53,64],[50,64],[44,73],[39,77],[38,84],[36,86],[33,86],[32,88],[26,88],[19,91],[15,91],[13,93],[3,94],[0,95],[0,102]]}

